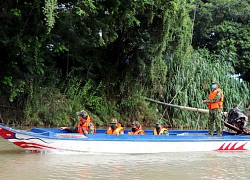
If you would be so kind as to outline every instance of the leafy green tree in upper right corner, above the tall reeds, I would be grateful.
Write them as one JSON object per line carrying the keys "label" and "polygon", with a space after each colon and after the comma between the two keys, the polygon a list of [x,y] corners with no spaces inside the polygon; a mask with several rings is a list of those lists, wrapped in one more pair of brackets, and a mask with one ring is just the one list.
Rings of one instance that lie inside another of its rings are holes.
{"label": "leafy green tree in upper right corner, above the tall reeds", "polygon": [[250,2],[249,0],[196,0],[194,48],[237,54],[226,59],[237,74],[250,82]]}

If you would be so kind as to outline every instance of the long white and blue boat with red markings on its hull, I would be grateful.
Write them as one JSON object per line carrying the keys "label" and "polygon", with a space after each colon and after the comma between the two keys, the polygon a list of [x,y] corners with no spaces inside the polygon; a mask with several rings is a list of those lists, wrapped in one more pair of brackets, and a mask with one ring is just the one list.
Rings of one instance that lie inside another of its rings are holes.
{"label": "long white and blue boat with red markings on its hull", "polygon": [[56,128],[16,130],[0,125],[0,136],[26,150],[77,151],[84,153],[165,153],[191,151],[248,151],[250,135],[223,131],[222,136],[208,136],[206,130],[170,130],[168,136],[107,135],[105,130],[84,136]]}

